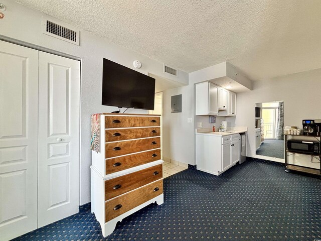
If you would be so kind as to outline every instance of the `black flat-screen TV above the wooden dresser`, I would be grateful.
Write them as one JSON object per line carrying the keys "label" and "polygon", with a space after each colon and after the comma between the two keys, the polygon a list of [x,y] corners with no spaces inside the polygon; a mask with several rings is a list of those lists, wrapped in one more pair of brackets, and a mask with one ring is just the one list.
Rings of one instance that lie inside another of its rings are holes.
{"label": "black flat-screen TV above the wooden dresser", "polygon": [[103,59],[102,104],[154,109],[155,79]]}

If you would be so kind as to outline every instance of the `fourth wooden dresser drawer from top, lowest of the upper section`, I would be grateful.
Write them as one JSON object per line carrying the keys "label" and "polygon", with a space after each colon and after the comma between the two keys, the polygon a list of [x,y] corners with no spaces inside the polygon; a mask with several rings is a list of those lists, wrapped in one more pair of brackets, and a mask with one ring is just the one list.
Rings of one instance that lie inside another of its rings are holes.
{"label": "fourth wooden dresser drawer from top, lowest of the upper section", "polygon": [[106,159],[106,175],[161,159],[161,149]]}

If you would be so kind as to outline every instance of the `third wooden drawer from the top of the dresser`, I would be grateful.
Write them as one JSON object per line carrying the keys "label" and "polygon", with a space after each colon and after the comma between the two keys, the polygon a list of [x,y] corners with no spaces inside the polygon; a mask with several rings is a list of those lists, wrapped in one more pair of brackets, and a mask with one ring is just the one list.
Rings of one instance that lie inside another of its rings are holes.
{"label": "third wooden drawer from the top of the dresser", "polygon": [[105,157],[117,157],[125,154],[147,151],[159,147],[161,147],[160,137],[106,143]]}

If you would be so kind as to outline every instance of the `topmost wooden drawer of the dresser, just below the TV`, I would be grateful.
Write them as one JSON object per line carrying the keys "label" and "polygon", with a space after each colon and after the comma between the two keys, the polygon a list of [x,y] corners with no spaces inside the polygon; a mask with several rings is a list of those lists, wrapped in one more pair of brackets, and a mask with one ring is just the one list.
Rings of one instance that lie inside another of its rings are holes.
{"label": "topmost wooden drawer of the dresser, just below the TV", "polygon": [[105,116],[105,128],[157,126],[161,126],[159,116]]}

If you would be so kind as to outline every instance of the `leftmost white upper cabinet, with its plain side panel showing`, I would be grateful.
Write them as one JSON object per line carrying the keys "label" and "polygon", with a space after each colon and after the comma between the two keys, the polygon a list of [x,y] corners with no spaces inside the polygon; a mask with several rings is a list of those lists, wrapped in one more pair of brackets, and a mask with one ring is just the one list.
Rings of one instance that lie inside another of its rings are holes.
{"label": "leftmost white upper cabinet, with its plain side panel showing", "polygon": [[195,85],[196,115],[218,115],[219,86],[211,82]]}

